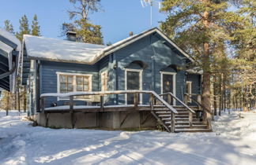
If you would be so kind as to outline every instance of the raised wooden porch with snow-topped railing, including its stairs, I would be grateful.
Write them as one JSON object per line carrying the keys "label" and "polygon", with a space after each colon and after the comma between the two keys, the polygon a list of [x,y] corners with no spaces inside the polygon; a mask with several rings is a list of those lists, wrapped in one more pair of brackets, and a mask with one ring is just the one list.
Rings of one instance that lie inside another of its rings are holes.
{"label": "raised wooden porch with snow-topped railing, including its stairs", "polygon": [[[133,105],[104,105],[105,95],[133,94]],[[139,95],[149,94],[149,104],[140,105]],[[162,96],[167,95],[168,101],[164,101]],[[99,105],[74,105],[74,98],[79,96],[99,96]],[[69,97],[69,105],[45,107],[47,97]],[[186,105],[186,100],[190,98],[197,106]],[[171,105],[171,99],[175,99],[179,106]],[[49,114],[70,113],[72,127],[75,126],[74,116],[76,113],[99,113],[99,112],[150,112],[157,120],[157,123],[168,132],[202,132],[212,131],[210,123],[210,112],[204,110],[203,106],[190,95],[184,95],[184,102],[180,101],[174,94],[156,94],[152,90],[116,90],[101,92],[79,92],[67,94],[42,94],[40,97],[40,112],[46,116],[48,123]],[[126,117],[125,117],[126,119]],[[124,121],[122,121],[123,123]],[[47,124],[46,124],[47,126]]]}

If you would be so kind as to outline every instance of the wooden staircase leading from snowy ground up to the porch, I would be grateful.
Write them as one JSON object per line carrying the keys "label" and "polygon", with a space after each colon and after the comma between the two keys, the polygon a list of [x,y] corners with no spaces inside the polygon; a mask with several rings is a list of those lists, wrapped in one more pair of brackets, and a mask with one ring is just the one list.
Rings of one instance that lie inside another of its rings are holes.
{"label": "wooden staircase leading from snowy ground up to the porch", "polygon": [[[195,113],[192,114],[193,119],[190,123],[189,111],[183,106],[173,106],[176,109],[178,114],[175,116],[175,128],[176,133],[179,132],[211,132],[212,129],[209,129],[208,126],[201,121]],[[194,111],[198,110],[198,107],[191,107]],[[158,121],[163,125],[163,127],[171,132],[171,111],[168,108],[165,108],[164,105],[154,105],[152,110],[153,116],[158,119]]]}

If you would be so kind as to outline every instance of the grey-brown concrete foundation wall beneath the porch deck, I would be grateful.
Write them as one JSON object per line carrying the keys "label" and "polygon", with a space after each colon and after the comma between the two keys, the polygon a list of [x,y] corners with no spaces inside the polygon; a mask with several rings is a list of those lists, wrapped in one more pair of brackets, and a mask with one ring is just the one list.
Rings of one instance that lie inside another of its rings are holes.
{"label": "grey-brown concrete foundation wall beneath the porch deck", "polygon": [[[46,127],[46,114],[35,116],[40,126]],[[150,112],[92,112],[75,113],[75,128],[93,128],[122,130],[126,128],[143,129],[156,127],[156,119]],[[48,127],[72,128],[70,113],[49,113]]]}

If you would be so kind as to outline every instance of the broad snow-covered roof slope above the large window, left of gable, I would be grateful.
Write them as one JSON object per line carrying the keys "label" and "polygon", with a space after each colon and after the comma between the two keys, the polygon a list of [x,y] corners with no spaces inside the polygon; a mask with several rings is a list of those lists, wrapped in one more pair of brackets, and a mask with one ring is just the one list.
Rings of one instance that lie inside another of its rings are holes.
{"label": "broad snow-covered roof slope above the large window, left of gable", "polygon": [[91,63],[106,46],[71,42],[56,38],[24,35],[28,57],[51,60]]}

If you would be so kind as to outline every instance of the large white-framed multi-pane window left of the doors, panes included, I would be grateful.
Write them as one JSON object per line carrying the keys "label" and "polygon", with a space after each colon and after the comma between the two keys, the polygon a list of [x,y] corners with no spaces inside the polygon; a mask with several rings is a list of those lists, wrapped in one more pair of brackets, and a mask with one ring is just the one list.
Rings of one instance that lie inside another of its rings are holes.
{"label": "large white-framed multi-pane window left of the doors, panes included", "polygon": [[[57,76],[58,93],[92,91],[92,75],[57,72]],[[91,99],[91,96],[76,97],[76,99]]]}

